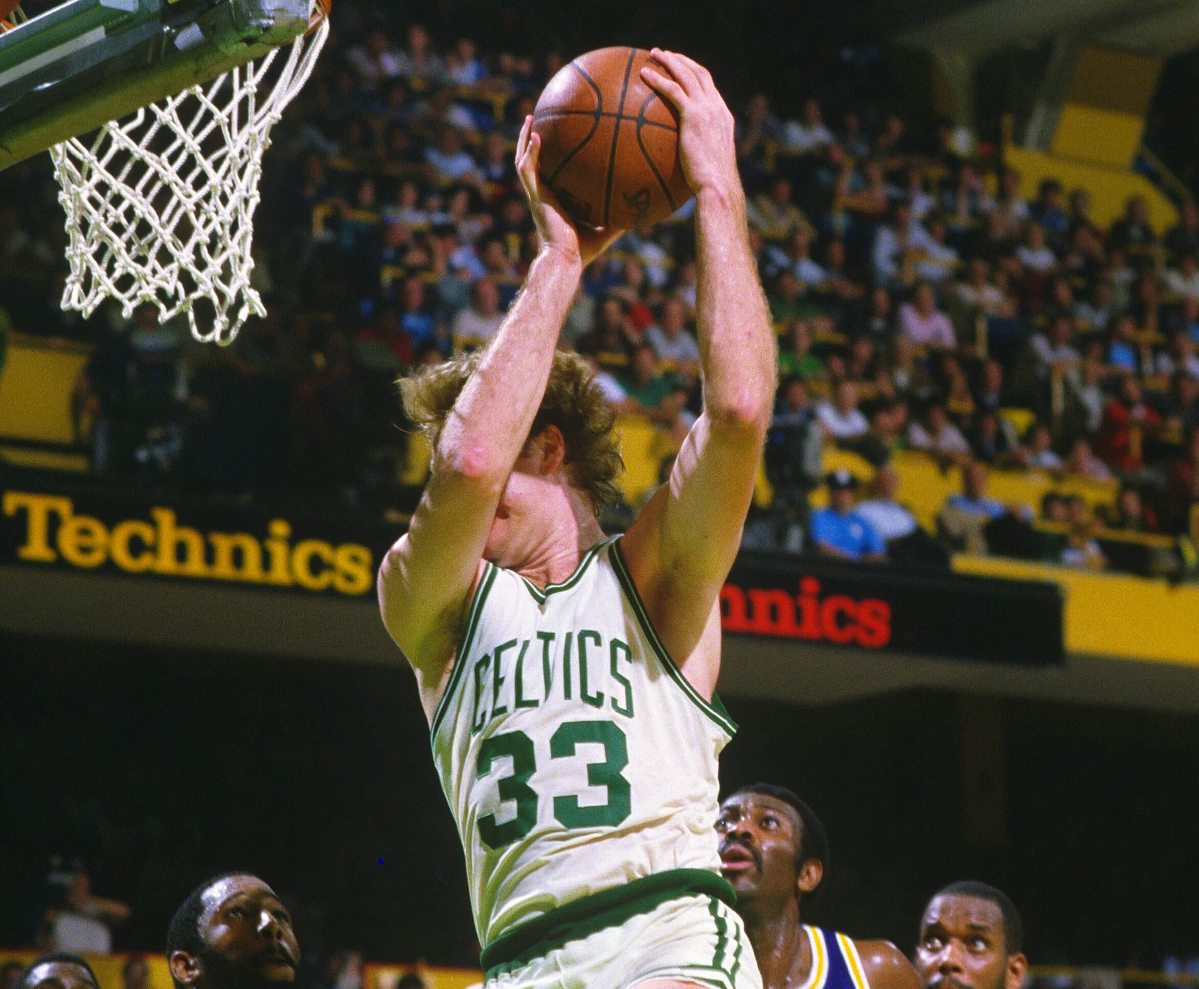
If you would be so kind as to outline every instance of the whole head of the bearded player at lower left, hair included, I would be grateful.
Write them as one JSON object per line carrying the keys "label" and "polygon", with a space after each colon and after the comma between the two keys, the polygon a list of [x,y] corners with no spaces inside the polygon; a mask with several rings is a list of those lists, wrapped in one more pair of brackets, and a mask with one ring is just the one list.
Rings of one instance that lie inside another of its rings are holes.
{"label": "whole head of the bearded player at lower left, hair included", "polygon": [[175,989],[281,989],[295,982],[291,915],[258,876],[227,873],[197,886],[167,930]]}

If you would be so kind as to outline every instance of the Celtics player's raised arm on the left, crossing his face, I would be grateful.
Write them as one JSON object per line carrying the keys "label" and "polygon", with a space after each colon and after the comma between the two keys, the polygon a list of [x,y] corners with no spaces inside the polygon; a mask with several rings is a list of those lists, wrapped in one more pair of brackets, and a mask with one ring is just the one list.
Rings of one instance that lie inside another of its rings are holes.
{"label": "Celtics player's raised arm on the left, crossing his face", "polygon": [[[541,185],[541,139],[531,133],[531,122],[526,119],[520,132],[517,168],[541,252],[495,340],[460,385],[436,435],[429,483],[409,531],[379,569],[384,622],[416,669],[427,707],[430,698],[435,702],[453,658],[463,605],[482,569],[504,487],[541,405],[583,266],[604,246],[597,234],[579,235]],[[439,372],[465,373],[458,364],[429,374]]]}

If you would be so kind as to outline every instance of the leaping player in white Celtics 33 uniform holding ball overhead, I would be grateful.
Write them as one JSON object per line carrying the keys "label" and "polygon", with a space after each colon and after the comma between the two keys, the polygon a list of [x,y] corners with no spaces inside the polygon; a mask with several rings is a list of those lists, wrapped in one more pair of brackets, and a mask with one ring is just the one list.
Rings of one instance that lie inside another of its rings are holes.
{"label": "leaping player in white Celtics 33 uniform holding ball overhead", "polygon": [[379,597],[416,673],[458,825],[487,984],[755,987],[711,822],[735,726],[716,696],[718,595],[770,420],[775,343],[749,252],[733,116],[705,68],[653,52],[695,192],[704,412],[628,531],[597,509],[613,414],[555,344],[603,235],[517,167],[541,251],[478,354],[402,382],[434,445]]}

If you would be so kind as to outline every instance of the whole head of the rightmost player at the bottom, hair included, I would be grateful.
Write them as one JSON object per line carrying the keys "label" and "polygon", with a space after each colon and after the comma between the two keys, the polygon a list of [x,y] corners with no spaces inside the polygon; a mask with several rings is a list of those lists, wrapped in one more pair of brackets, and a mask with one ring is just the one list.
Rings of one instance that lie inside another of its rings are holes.
{"label": "whole head of the rightmost player at the bottom, hair included", "polygon": [[923,989],[1020,989],[1028,967],[1024,924],[1002,891],[954,882],[928,901],[916,945]]}

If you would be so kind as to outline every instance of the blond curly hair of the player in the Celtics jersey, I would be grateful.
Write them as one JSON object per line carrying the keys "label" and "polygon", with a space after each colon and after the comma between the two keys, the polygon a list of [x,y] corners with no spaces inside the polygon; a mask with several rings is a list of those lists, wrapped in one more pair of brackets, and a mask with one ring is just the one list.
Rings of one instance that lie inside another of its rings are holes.
{"label": "blond curly hair of the player in the Celtics jersey", "polygon": [[[409,421],[438,445],[446,417],[478,368],[486,350],[476,350],[445,363],[400,378],[400,398]],[[595,373],[578,354],[559,350],[546,384],[546,396],[532,421],[529,439],[547,426],[556,426],[566,441],[571,480],[597,514],[620,500],[616,478],[625,471],[620,456],[616,414],[604,398]]]}

